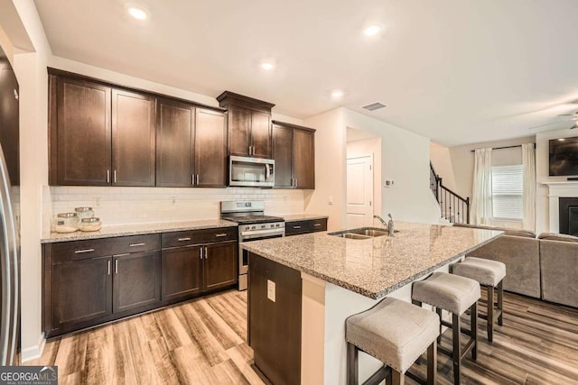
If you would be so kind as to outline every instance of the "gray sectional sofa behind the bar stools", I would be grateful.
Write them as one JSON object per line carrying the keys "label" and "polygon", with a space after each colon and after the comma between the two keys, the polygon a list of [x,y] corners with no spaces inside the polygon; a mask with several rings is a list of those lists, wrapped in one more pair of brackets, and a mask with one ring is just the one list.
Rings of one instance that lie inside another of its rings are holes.
{"label": "gray sectional sofa behind the bar stools", "polygon": [[578,237],[550,233],[536,237],[532,232],[488,225],[454,226],[505,233],[467,255],[504,262],[505,290],[578,307]]}

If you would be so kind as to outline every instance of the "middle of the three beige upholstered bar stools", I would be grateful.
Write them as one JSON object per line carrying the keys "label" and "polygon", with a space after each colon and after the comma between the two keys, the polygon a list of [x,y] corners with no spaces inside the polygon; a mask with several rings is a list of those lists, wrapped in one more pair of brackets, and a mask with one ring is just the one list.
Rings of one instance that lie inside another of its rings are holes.
{"label": "middle of the three beige upholstered bar stools", "polygon": [[[414,282],[412,287],[412,302],[422,306],[426,303],[435,307],[440,319],[440,337],[442,325],[452,328],[452,350],[438,346],[441,353],[452,357],[453,383],[458,385],[461,377],[461,360],[471,351],[472,360],[478,357],[478,299],[480,299],[480,284],[476,280],[460,277],[446,272],[434,272],[426,280]],[[442,309],[452,313],[452,323],[443,321]],[[471,330],[461,330],[460,316],[470,309]],[[470,335],[470,340],[461,349],[461,333]]]}

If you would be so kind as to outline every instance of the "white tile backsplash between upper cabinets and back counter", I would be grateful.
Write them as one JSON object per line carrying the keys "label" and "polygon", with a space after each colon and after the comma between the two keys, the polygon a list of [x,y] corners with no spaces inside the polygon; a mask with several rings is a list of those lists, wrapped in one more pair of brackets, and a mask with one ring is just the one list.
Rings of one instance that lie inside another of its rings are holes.
{"label": "white tile backsplash between upper cabinets and back counter", "polygon": [[265,200],[268,215],[303,213],[303,190],[51,187],[50,192],[52,215],[91,206],[103,225],[217,219],[220,201],[238,199]]}

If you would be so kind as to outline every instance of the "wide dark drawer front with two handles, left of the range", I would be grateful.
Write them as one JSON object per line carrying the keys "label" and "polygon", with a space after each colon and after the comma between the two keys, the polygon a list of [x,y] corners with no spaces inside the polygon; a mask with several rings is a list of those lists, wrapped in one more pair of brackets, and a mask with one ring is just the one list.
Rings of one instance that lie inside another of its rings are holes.
{"label": "wide dark drawer front with two handles, left of the range", "polygon": [[85,260],[126,252],[146,252],[160,248],[159,234],[129,235],[115,238],[52,244],[52,262]]}

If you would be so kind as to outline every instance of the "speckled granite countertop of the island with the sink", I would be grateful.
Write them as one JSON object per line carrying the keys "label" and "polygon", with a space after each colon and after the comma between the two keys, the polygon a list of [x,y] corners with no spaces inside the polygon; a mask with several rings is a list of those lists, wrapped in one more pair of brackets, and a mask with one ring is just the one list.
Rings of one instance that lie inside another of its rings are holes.
{"label": "speckled granite countertop of the island with the sink", "polygon": [[489,243],[503,232],[396,222],[395,237],[358,240],[326,232],[243,243],[243,248],[294,270],[382,298]]}

